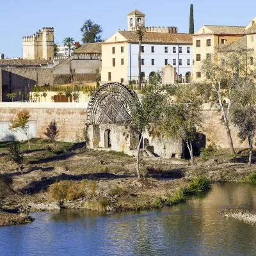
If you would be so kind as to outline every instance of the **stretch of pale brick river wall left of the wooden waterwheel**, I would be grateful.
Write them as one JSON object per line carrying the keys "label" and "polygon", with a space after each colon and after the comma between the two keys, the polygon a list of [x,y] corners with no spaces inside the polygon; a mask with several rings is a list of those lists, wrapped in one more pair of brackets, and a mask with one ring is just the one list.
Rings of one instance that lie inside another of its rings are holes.
{"label": "stretch of pale brick river wall left of the wooden waterwheel", "polygon": [[36,125],[36,137],[45,138],[44,132],[56,120],[60,136],[58,140],[76,142],[83,138],[87,104],[79,103],[0,103],[0,122],[8,124],[10,118],[22,109],[29,111],[31,124]]}

